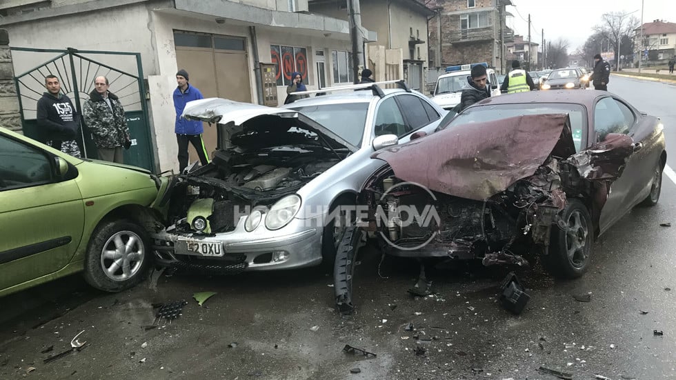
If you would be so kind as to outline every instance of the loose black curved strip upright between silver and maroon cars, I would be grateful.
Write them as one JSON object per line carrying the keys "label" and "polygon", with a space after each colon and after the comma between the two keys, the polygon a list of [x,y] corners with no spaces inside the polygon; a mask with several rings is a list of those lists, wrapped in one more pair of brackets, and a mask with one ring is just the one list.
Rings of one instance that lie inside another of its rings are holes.
{"label": "loose black curved strip upright between silver and maroon cars", "polygon": [[355,260],[359,250],[361,229],[351,226],[346,229],[338,244],[335,266],[333,268],[333,289],[336,296],[336,307],[343,315],[352,314],[352,278],[355,276]]}

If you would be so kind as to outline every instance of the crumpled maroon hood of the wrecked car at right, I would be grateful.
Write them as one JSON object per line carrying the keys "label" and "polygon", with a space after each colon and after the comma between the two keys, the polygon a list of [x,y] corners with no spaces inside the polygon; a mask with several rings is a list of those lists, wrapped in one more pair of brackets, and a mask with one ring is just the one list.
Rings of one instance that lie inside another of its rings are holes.
{"label": "crumpled maroon hood of the wrecked car at right", "polygon": [[569,157],[575,144],[566,114],[471,123],[372,155],[395,176],[430,190],[477,201],[529,177],[550,154]]}

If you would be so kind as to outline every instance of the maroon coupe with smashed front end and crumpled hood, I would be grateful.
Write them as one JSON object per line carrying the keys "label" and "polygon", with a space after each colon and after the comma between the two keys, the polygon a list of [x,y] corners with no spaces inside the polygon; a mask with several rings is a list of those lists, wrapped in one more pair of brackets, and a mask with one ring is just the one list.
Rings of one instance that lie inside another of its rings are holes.
{"label": "maroon coupe with smashed front end and crumpled hood", "polygon": [[[388,166],[365,182],[359,200],[372,211],[359,226],[385,254],[484,265],[539,259],[556,277],[576,278],[600,234],[659,200],[664,126],[610,92],[484,99],[439,129],[372,156]],[[337,266],[355,261],[361,234],[349,231]],[[352,269],[336,271],[344,310]]]}

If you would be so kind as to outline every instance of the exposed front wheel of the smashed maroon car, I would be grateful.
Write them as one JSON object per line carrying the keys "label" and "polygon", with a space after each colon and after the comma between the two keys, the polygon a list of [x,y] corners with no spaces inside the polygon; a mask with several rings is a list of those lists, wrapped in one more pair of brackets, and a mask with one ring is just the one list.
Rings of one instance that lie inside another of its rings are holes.
{"label": "exposed front wheel of the smashed maroon car", "polygon": [[579,199],[568,199],[561,211],[561,226],[552,227],[549,252],[542,256],[542,264],[555,277],[576,279],[589,266],[593,244],[589,211]]}

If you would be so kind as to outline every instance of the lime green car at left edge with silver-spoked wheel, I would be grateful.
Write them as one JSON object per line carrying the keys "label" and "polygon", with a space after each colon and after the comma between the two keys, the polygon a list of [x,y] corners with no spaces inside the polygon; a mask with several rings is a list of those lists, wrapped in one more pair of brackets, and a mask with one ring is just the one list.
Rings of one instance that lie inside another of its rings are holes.
{"label": "lime green car at left edge with silver-spoked wheel", "polygon": [[152,261],[162,187],[148,170],[78,159],[0,128],[0,296],[82,270],[100,290],[134,286]]}

